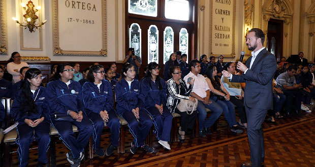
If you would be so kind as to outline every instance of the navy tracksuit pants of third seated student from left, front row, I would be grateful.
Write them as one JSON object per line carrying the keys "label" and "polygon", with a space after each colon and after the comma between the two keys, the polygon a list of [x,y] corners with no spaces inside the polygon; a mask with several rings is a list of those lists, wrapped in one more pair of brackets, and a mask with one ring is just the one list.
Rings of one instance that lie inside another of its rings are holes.
{"label": "navy tracksuit pants of third seated student from left, front row", "polygon": [[[106,122],[106,126],[109,127],[110,132],[111,132],[110,140],[111,140],[112,145],[117,147],[118,141],[119,141],[120,122],[116,115],[115,110],[110,110],[107,113],[108,113],[109,119],[108,119],[108,122]],[[101,115],[98,113],[90,112],[87,116],[92,121],[93,127],[94,127],[93,149],[98,150],[101,148],[101,135],[102,135],[102,131],[104,129],[105,124]]]}

